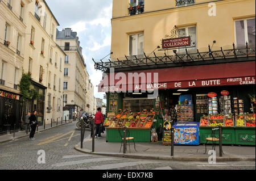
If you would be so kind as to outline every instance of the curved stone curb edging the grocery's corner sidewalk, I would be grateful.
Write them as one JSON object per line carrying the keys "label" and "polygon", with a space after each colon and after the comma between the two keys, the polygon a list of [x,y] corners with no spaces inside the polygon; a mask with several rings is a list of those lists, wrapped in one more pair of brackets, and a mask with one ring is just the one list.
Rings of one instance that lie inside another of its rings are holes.
{"label": "curved stone curb edging the grocery's corner sidewalk", "polygon": [[[101,155],[107,157],[118,157],[118,158],[133,158],[133,159],[154,159],[154,160],[163,160],[163,161],[201,161],[208,162],[208,157],[158,157],[158,156],[148,156],[148,155],[134,155],[134,154],[123,154],[123,153],[103,153],[103,152],[94,152],[92,150],[81,149],[79,146],[75,146],[75,150],[80,151],[81,153]],[[255,158],[237,158],[237,157],[217,157],[217,162],[238,162],[238,161],[254,161]]]}

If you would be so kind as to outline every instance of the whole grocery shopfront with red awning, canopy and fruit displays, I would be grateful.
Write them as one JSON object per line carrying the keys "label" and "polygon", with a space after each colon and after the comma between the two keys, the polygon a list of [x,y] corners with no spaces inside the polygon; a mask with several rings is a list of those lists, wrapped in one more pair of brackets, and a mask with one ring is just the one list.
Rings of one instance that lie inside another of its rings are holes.
{"label": "whole grocery shopfront with red awning, canopy and fruit displays", "polygon": [[[165,145],[172,126],[175,144],[199,145],[221,125],[222,144],[255,145],[255,48],[126,56],[122,61],[95,62],[95,68],[106,73],[98,91],[107,95],[107,142],[121,142],[118,128],[123,125],[135,142],[155,141],[152,128],[162,126]],[[158,96],[152,96],[154,92]]]}

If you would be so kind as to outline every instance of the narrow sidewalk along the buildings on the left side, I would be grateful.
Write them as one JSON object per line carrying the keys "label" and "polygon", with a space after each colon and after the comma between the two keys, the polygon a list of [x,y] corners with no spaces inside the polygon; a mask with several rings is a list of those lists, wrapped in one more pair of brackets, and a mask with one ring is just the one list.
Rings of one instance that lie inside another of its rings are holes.
{"label": "narrow sidewalk along the buildings on the left side", "polygon": [[[67,121],[67,123],[65,123],[65,121],[63,121],[63,124],[61,124],[61,122],[58,122],[58,125],[56,125],[57,123],[54,122],[54,123],[52,123],[52,127],[51,127],[51,124],[46,124],[46,129],[44,129],[44,126],[40,126],[40,127],[38,127],[38,130],[36,129],[35,134],[43,132],[43,131],[47,131],[52,128],[60,127],[61,125],[65,125],[65,124],[69,124],[69,123],[72,123],[72,122]],[[13,130],[11,130],[11,134],[3,134],[0,136],[0,144],[2,144],[4,142],[9,142],[9,141],[15,141],[15,140],[18,140],[19,138],[23,138],[23,137],[28,137],[29,135],[30,135],[30,132],[28,132],[28,134],[27,134],[26,126],[24,127],[23,131],[19,131],[19,132],[16,131],[15,137],[13,137],[14,136]]]}

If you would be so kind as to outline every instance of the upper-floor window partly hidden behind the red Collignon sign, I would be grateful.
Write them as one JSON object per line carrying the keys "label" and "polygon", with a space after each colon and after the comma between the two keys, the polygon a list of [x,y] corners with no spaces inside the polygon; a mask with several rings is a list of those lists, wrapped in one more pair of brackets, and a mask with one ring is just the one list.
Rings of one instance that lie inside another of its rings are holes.
{"label": "upper-floor window partly hidden behind the red Collignon sign", "polygon": [[[196,47],[197,47],[197,43],[196,43],[196,27],[185,27],[185,28],[179,28],[180,33],[179,36],[183,37],[183,36],[190,36],[190,42],[191,42],[191,46],[190,47],[186,47],[188,52],[194,52],[196,51]],[[185,48],[179,48],[178,49],[178,53],[185,53],[186,50]]]}

